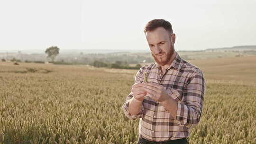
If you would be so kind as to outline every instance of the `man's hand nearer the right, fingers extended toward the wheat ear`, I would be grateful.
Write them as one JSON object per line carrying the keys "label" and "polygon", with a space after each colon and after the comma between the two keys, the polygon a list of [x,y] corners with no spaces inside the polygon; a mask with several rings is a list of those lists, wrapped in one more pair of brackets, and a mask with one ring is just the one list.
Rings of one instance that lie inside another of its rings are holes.
{"label": "man's hand nearer the right, fingers extended toward the wheat ear", "polygon": [[155,101],[163,102],[168,99],[168,94],[165,91],[165,88],[160,84],[146,82],[144,83],[144,88],[148,97],[154,99]]}

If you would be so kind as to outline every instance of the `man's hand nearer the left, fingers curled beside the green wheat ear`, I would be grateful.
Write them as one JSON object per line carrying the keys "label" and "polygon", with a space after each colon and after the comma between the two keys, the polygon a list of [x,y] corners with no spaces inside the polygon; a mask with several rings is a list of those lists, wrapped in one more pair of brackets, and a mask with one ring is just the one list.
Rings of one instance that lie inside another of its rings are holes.
{"label": "man's hand nearer the left, fingers curled beside the green wheat ear", "polygon": [[146,96],[146,91],[143,87],[144,83],[136,83],[132,86],[132,95],[138,101],[143,101]]}

